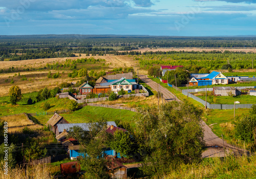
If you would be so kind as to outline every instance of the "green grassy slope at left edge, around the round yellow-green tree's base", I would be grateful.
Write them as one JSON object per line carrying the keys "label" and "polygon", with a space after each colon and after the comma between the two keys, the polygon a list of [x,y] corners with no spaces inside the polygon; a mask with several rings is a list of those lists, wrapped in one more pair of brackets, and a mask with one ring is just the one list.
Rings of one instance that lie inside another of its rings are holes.
{"label": "green grassy slope at left edge, around the round yellow-green tree's base", "polygon": [[[24,96],[32,96],[32,99],[34,98],[34,93],[26,94]],[[14,115],[14,114],[20,114],[20,113],[41,113],[45,110],[42,108],[44,106],[44,103],[48,101],[51,104],[51,108],[47,110],[47,112],[53,112],[56,110],[62,110],[67,109],[67,103],[69,102],[69,99],[62,98],[50,98],[46,101],[40,101],[31,105],[27,104],[28,98],[24,98],[22,101],[18,102],[16,105],[12,105],[9,102],[8,97],[1,97],[0,98],[0,116],[8,116],[8,115]]]}

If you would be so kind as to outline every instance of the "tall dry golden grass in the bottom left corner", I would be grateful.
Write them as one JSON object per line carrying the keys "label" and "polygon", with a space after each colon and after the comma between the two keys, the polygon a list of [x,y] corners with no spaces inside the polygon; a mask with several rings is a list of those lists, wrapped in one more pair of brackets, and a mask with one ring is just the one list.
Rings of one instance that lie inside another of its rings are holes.
{"label": "tall dry golden grass in the bottom left corner", "polygon": [[25,170],[20,167],[9,168],[8,175],[4,173],[4,170],[0,170],[0,179],[24,179],[24,178],[34,178],[34,179],[50,179],[53,176],[50,173],[50,166],[44,165],[36,165],[28,167]]}

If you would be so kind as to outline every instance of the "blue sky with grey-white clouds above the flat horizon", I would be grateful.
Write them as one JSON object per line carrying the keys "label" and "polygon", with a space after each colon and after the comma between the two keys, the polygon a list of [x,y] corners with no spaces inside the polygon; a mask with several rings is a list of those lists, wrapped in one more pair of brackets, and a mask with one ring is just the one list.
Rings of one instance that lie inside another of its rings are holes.
{"label": "blue sky with grey-white clouds above the flat horizon", "polygon": [[256,35],[256,0],[0,2],[0,35]]}

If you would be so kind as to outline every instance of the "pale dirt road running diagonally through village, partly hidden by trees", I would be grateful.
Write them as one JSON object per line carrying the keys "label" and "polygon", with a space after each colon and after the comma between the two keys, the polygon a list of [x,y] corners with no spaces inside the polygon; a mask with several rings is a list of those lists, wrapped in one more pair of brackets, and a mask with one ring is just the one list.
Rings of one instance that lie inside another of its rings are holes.
{"label": "pale dirt road running diagonally through village, partly hidden by trees", "polygon": [[[148,78],[144,75],[140,75],[139,78],[146,82],[147,85],[152,87],[155,91],[157,91],[157,83],[155,81],[152,81],[150,78]],[[161,86],[161,92],[163,93],[163,97],[166,101],[174,101],[174,94],[170,93],[168,89]],[[180,101],[176,98],[176,101]],[[224,156],[224,150],[223,150],[223,142],[222,139],[220,139],[218,136],[215,135],[214,132],[211,131],[211,128],[206,125],[204,121],[201,121],[202,128],[204,130],[204,141],[206,143],[206,150],[202,153],[202,158],[210,158],[210,157],[222,157]],[[243,152],[242,149],[232,146],[224,141],[224,147],[225,147],[225,153],[229,152]]]}

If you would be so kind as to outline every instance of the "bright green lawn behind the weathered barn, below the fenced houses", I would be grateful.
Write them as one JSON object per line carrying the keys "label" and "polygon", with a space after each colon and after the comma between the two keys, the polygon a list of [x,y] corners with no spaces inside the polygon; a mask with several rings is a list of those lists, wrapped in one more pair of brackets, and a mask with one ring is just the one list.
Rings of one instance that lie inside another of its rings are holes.
{"label": "bright green lawn behind the weathered barn, below the fenced houses", "polygon": [[[135,112],[130,110],[122,109],[112,109],[105,107],[94,107],[94,106],[85,106],[79,110],[60,114],[65,118],[69,123],[86,123],[91,121],[99,121],[103,118],[106,121],[123,121],[132,123],[133,117],[136,115]],[[51,118],[52,115],[45,116],[34,116],[39,123],[46,124],[47,121]]]}

